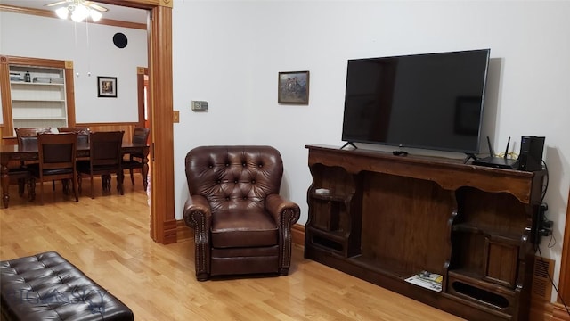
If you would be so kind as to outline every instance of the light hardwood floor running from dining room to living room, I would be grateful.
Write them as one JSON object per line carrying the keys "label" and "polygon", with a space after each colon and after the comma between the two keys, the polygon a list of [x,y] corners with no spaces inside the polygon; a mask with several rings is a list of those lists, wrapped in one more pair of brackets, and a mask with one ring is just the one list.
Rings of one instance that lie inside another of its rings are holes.
{"label": "light hardwood floor running from dining room to living room", "polygon": [[126,179],[125,195],[102,195],[95,181],[94,200],[84,184],[74,202],[50,183],[43,206],[11,186],[10,208],[0,213],[0,259],[58,251],[133,309],[135,320],[460,320],[304,259],[300,246],[289,276],[198,282],[193,240],[154,243],[149,200],[135,184]]}

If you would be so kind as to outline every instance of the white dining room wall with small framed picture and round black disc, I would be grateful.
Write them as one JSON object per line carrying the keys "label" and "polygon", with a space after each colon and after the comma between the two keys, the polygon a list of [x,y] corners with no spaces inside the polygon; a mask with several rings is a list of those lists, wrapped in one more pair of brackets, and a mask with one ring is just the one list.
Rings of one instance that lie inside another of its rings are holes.
{"label": "white dining room wall with small framed picture and round black disc", "polygon": [[[123,49],[113,44],[117,32],[127,37]],[[146,37],[141,29],[0,11],[0,54],[74,62],[77,123],[138,121],[136,68],[148,64]],[[117,77],[117,98],[97,97],[98,76]]]}

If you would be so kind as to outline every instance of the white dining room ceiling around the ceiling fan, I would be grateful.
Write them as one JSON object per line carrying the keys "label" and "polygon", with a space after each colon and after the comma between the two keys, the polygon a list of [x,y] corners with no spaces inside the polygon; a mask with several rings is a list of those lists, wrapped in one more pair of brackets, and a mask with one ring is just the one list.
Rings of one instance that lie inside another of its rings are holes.
{"label": "white dining room ceiling around the ceiling fan", "polygon": [[[59,0],[0,0],[0,4],[52,11],[64,4],[55,7],[47,7],[45,6],[45,4],[52,4],[58,1]],[[109,9],[108,12],[103,12],[103,19],[146,23],[146,15],[147,15],[146,10],[128,8],[111,4],[100,4],[100,5]]]}

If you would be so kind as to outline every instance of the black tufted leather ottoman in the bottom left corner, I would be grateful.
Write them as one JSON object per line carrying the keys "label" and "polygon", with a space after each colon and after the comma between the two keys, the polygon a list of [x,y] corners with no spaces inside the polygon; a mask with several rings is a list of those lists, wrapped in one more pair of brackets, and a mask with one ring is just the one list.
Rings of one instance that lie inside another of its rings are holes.
{"label": "black tufted leather ottoman in the bottom left corner", "polygon": [[53,251],[0,262],[2,320],[133,320],[133,311]]}

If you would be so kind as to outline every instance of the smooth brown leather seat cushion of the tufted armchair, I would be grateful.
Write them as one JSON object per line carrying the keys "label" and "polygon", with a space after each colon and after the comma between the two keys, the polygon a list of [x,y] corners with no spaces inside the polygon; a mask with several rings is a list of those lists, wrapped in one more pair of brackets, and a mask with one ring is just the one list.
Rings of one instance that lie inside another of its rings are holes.
{"label": "smooth brown leather seat cushion of the tufted armchair", "polygon": [[278,228],[264,210],[223,210],[212,216],[212,247],[236,248],[278,244]]}

